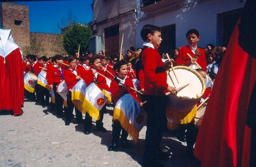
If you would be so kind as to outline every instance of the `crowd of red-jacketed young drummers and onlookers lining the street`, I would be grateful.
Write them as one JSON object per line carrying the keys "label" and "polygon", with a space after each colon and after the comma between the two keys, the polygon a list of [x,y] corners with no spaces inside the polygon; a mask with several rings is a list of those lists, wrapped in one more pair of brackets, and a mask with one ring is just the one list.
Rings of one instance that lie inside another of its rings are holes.
{"label": "crowd of red-jacketed young drummers and onlookers lining the street", "polygon": [[[205,48],[199,47],[199,32],[191,29],[186,33],[188,44],[169,53],[170,60],[168,60],[168,54],[163,53],[161,56],[158,53],[162,41],[160,27],[145,25],[141,30],[141,37],[144,41],[143,48],[135,50],[134,47],[130,47],[126,55],[120,56],[105,57],[102,50],[98,54],[90,52],[79,56],[76,52],[74,56],[55,55],[50,58],[42,56],[38,59],[36,55],[27,55],[23,62],[24,75],[32,73],[38,76],[41,71],[44,71],[48,85],[42,86],[37,83],[34,88],[35,93],[25,89],[25,98],[34,101],[36,105],[41,105],[42,108],[49,106],[51,112],[56,112],[57,118],[65,118],[66,126],[70,125],[74,117],[73,110],[75,110],[76,122],[84,125],[84,134],[88,135],[91,133],[93,117],[90,112],[86,112],[83,119],[81,110],[72,102],[72,88],[79,80],[84,80],[87,86],[94,83],[100,90],[109,91],[112,95],[111,105],[113,107],[122,96],[130,94],[141,104],[147,114],[143,166],[163,166],[158,160],[168,158],[159,149],[167,125],[165,93],[177,94],[178,92],[176,88],[168,86],[166,70],[172,65],[188,66],[197,69],[203,78],[208,75],[214,80],[224,57],[225,47],[212,44],[208,44]],[[108,84],[106,78],[111,80],[111,84]],[[143,93],[140,98],[135,92],[136,85],[133,79],[140,83],[139,91]],[[66,82],[68,92],[66,102],[57,90],[63,80]],[[203,100],[200,99],[195,107]],[[142,104],[143,101],[146,103]],[[101,132],[106,132],[102,122],[104,113],[106,113],[106,105],[104,104],[99,110],[99,119],[96,120],[97,130]],[[195,107],[187,112],[188,116],[195,117],[197,113]],[[180,121],[178,124],[179,128],[172,130],[180,141],[187,142],[186,155],[195,158],[193,146],[196,142],[198,128],[195,126],[194,119]],[[127,142],[129,133],[120,122],[113,119],[112,127],[113,139],[108,150],[115,151],[117,147],[129,146]]]}

